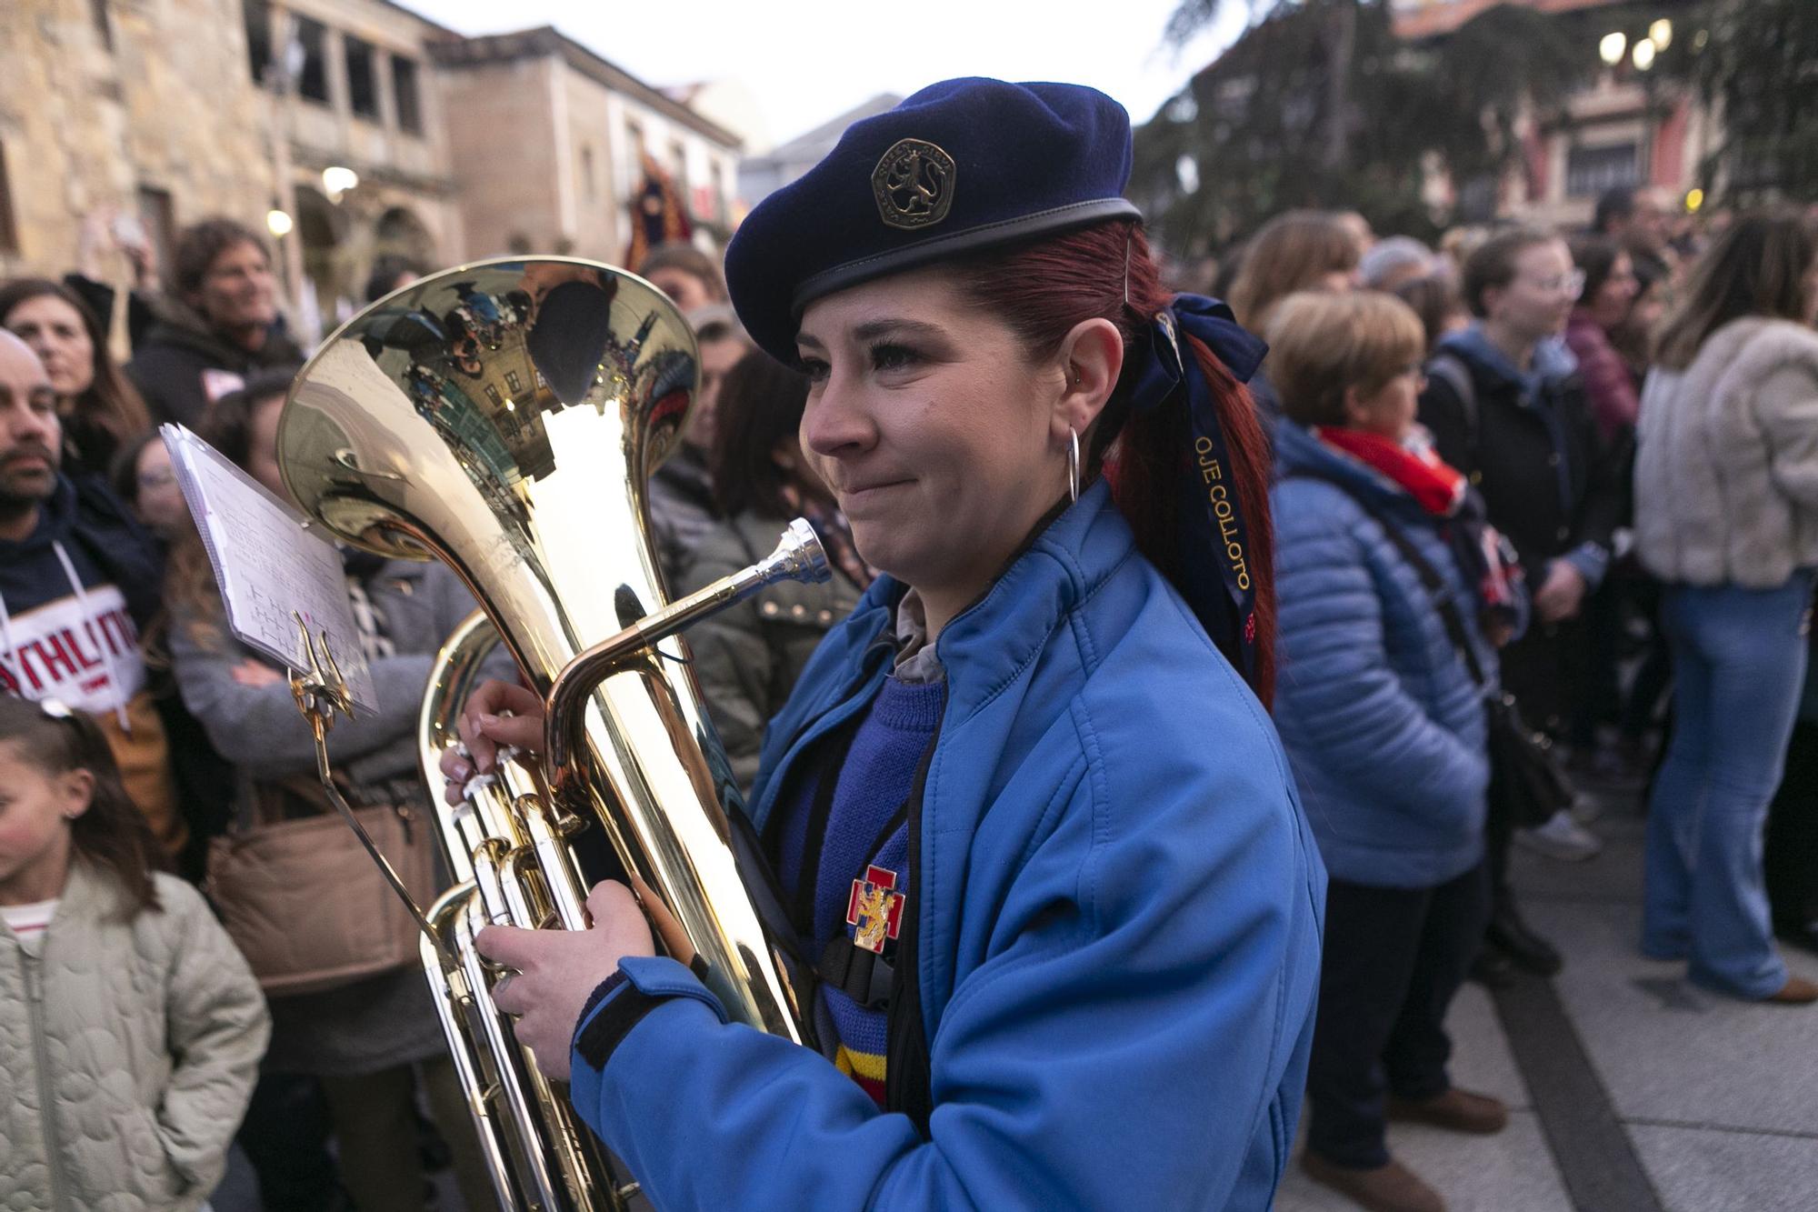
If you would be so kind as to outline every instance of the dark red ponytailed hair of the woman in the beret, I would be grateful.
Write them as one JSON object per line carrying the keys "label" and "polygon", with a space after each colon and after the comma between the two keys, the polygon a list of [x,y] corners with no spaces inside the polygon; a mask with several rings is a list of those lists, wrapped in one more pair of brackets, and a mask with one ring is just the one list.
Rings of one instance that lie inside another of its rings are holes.
{"label": "dark red ponytailed hair of the woman in the beret", "polygon": [[[1125,278],[1127,268],[1127,278]],[[1109,222],[1042,238],[1007,251],[971,257],[953,266],[965,298],[1009,324],[1031,359],[1060,353],[1067,333],[1104,318],[1124,333],[1124,373],[1089,437],[1087,470],[1104,468],[1138,550],[1182,584],[1180,508],[1187,451],[1193,449],[1184,399],[1147,413],[1131,411],[1138,338],[1147,340],[1154,313],[1173,302],[1140,227]],[[1125,288],[1127,280],[1127,288]],[[1129,291],[1125,302],[1125,289]],[[1231,471],[1249,530],[1249,570],[1256,590],[1256,642],[1251,688],[1267,706],[1274,695],[1274,528],[1269,520],[1269,442],[1249,391],[1198,338],[1185,346],[1211,386],[1231,449]],[[1216,559],[1213,551],[1196,559]],[[1238,664],[1236,651],[1225,655]],[[1242,670],[1242,664],[1238,664]]]}

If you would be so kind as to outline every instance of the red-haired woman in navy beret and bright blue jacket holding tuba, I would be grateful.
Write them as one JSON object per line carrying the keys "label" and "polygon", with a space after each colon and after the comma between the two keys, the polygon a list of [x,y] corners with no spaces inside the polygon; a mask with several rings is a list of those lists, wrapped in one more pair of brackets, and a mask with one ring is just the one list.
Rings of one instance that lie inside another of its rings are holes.
{"label": "red-haired woman in navy beret and bright blue jacket holding tuba", "polygon": [[[893,171],[938,166],[900,204]],[[1324,872],[1264,702],[1262,349],[1171,297],[1129,118],[951,80],[854,124],[727,257],[813,380],[802,449],[884,570],[749,815],[822,1054],[731,1026],[629,890],[493,926],[500,1008],[662,1208],[1254,1208],[1300,1110]],[[471,761],[542,739],[482,688]]]}

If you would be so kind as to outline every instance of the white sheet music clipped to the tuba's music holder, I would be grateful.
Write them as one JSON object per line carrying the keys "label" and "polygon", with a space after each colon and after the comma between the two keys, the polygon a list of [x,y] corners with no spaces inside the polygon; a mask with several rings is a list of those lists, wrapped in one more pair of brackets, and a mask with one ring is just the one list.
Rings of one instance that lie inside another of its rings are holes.
{"label": "white sheet music clipped to the tuba's music holder", "polygon": [[196,520],[227,608],[227,628],[293,670],[309,666],[296,621],[329,637],[356,706],[378,710],[373,672],[347,599],[340,551],[293,506],[184,426],[160,426],[171,468]]}

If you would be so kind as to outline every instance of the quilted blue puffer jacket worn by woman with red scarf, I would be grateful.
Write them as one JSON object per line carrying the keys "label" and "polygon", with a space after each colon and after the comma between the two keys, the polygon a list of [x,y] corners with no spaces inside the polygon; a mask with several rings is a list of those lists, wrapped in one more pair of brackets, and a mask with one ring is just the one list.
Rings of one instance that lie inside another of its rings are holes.
{"label": "quilted blue puffer jacket worn by woman with red scarf", "polygon": [[1334,879],[1427,888],[1483,857],[1483,701],[1420,573],[1336,477],[1445,579],[1478,662],[1476,593],[1436,519],[1389,479],[1284,420],[1274,431],[1274,722]]}

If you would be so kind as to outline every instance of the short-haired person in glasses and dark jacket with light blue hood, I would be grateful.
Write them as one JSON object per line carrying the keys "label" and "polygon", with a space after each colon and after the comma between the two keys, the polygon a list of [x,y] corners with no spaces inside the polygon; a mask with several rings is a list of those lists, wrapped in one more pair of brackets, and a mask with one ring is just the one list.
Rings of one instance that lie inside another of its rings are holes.
{"label": "short-haired person in glasses and dark jacket with light blue hood", "polygon": [[[1474,318],[1427,362],[1420,422],[1440,459],[1478,488],[1489,524],[1514,544],[1534,613],[1502,653],[1503,686],[1529,724],[1556,737],[1583,693],[1583,604],[1609,566],[1623,510],[1622,479],[1562,340],[1583,273],[1563,238],[1516,227],[1465,258],[1462,286]],[[1522,841],[1562,859],[1587,859],[1600,843],[1565,812],[1513,821],[1502,808],[1493,793],[1494,910],[1480,975],[1496,979],[1505,961],[1553,974],[1558,952],[1523,924],[1509,895],[1511,833],[1522,830]]]}

